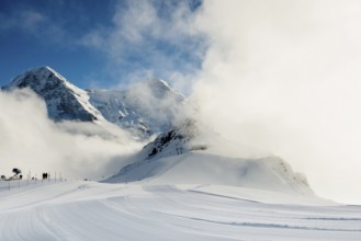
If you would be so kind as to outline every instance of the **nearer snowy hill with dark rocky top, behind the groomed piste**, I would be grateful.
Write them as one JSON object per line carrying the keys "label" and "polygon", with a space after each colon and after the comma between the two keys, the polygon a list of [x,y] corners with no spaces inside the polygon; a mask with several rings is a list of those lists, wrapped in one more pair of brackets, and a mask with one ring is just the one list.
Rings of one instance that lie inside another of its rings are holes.
{"label": "nearer snowy hill with dark rocky top, behind the groomed piste", "polygon": [[[219,184],[313,195],[306,179],[279,157],[229,158],[199,142],[199,124],[187,119],[143,148],[136,162],[108,182]],[[218,145],[225,145],[219,142]]]}

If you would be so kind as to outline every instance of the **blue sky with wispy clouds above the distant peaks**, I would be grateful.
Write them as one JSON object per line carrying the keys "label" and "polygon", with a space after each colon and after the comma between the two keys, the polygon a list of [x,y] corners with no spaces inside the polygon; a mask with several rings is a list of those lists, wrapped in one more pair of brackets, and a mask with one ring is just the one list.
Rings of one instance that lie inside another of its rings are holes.
{"label": "blue sky with wispy clouds above the distant peaks", "polygon": [[37,66],[50,66],[81,88],[187,79],[206,49],[205,37],[188,25],[201,4],[1,0],[0,85]]}

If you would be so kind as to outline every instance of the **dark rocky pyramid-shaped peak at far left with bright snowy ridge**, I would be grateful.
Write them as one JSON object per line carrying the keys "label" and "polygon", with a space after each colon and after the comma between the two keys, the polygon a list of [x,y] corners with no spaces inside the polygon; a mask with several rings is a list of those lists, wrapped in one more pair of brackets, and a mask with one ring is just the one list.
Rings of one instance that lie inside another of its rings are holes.
{"label": "dark rocky pyramid-shaped peak at far left with bright snowy ridge", "polygon": [[49,67],[40,67],[18,76],[2,90],[30,88],[44,99],[48,116],[54,120],[92,122],[104,119],[89,103],[86,91],[75,87]]}

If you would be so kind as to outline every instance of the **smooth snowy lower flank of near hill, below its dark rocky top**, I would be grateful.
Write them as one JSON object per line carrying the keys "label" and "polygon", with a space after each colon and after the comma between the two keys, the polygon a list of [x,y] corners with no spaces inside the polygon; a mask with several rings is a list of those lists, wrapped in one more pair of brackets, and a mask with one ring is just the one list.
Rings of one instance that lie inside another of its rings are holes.
{"label": "smooth snowy lower flank of near hill, below its dark rocky top", "polygon": [[122,169],[108,182],[145,180],[153,184],[217,184],[281,193],[313,195],[306,179],[278,157],[235,159],[191,151],[160,159],[145,159]]}

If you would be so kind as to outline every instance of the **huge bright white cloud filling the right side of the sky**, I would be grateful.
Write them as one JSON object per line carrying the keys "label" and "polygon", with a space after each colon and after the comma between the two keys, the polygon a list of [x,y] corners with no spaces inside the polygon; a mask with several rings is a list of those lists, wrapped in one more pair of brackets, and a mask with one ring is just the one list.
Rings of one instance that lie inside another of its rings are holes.
{"label": "huge bright white cloud filling the right side of the sky", "polygon": [[361,3],[204,1],[195,24],[211,41],[193,94],[203,120],[360,203]]}

